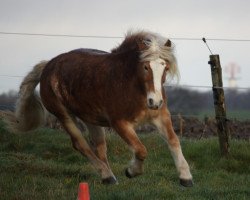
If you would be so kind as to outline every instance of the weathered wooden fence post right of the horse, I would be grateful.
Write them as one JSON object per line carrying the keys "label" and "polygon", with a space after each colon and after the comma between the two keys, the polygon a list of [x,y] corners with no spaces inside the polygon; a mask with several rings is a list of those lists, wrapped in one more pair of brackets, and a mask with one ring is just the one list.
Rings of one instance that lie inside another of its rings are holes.
{"label": "weathered wooden fence post right of the horse", "polygon": [[229,129],[227,126],[225,96],[222,83],[222,70],[219,55],[210,55],[214,109],[217,121],[217,130],[219,136],[220,151],[222,156],[227,157],[229,154]]}

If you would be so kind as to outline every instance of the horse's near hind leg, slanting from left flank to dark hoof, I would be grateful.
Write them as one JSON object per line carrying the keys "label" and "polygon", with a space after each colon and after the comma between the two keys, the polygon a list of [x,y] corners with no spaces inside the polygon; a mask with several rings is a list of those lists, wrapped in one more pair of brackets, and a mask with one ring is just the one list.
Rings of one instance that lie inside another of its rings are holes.
{"label": "horse's near hind leg, slanting from left flank to dark hoof", "polygon": [[73,118],[67,114],[59,120],[61,121],[65,130],[69,133],[74,148],[85,155],[93,164],[93,166],[100,172],[102,182],[104,184],[116,183],[116,178],[110,170],[109,166],[107,166],[105,162],[100,160],[91,150],[90,146],[82,136],[81,131],[77,128]]}

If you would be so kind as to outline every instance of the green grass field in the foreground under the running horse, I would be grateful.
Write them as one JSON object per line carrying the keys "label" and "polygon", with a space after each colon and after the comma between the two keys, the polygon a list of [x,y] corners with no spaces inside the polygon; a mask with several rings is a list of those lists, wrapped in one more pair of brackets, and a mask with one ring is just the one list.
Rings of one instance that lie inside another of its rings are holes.
{"label": "green grass field in the foreground under the running horse", "polygon": [[124,169],[131,154],[119,137],[107,134],[119,184],[105,186],[65,133],[39,129],[14,135],[0,121],[0,199],[75,200],[79,182],[88,182],[92,200],[250,199],[249,141],[231,141],[230,158],[222,159],[217,138],[181,139],[195,182],[193,188],[183,188],[164,141],[157,134],[140,137],[149,152],[145,173],[128,179]]}

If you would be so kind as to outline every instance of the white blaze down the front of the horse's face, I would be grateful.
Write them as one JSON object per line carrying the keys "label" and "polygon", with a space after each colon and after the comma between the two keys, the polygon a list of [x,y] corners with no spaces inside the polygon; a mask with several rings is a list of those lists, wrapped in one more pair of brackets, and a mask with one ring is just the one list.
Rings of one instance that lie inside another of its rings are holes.
{"label": "white blaze down the front of the horse's face", "polygon": [[147,94],[147,99],[153,99],[155,105],[159,105],[163,100],[162,98],[162,75],[166,67],[165,60],[161,58],[157,58],[156,60],[150,61],[150,67],[153,73],[153,81],[154,81],[154,91],[150,91]]}

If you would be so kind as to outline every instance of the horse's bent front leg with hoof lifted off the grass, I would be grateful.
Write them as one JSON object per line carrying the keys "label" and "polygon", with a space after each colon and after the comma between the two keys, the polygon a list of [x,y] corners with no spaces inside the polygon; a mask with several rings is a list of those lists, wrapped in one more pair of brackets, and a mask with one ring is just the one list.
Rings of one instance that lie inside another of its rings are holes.
{"label": "horse's bent front leg with hoof lifted off the grass", "polygon": [[143,161],[147,156],[147,149],[138,138],[133,125],[127,121],[120,120],[113,123],[113,128],[134,153],[130,166],[125,171],[126,176],[132,178],[142,174]]}

